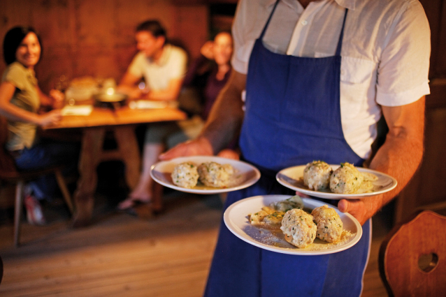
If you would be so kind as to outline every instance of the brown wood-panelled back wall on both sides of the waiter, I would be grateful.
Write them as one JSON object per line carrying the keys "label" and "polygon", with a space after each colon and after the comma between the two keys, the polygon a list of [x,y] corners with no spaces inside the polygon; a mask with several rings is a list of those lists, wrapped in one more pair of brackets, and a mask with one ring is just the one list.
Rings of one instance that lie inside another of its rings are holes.
{"label": "brown wood-panelled back wall on both sides of the waiter", "polygon": [[[446,5],[444,0],[420,1],[429,19],[432,40],[426,151],[422,167],[396,201],[396,221],[417,208],[446,208]],[[136,54],[134,28],[150,18],[159,19],[168,36],[182,43],[194,58],[210,37],[212,26],[228,29],[231,24],[231,15],[219,15],[215,7],[218,10],[221,5],[236,3],[236,0],[1,0],[0,38],[3,43],[6,31],[19,24],[34,26],[41,33],[44,52],[36,73],[41,88],[48,92],[60,75],[70,79],[85,75],[113,77],[118,81]],[[1,59],[0,73],[4,68]]]}

